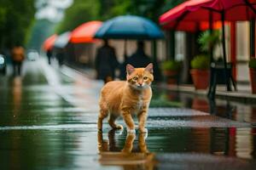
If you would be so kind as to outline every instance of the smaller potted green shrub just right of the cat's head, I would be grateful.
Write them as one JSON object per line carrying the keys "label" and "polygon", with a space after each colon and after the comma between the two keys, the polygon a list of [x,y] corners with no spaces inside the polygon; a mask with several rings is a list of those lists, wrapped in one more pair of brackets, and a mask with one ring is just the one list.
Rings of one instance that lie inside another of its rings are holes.
{"label": "smaller potted green shrub just right of the cat's head", "polygon": [[176,60],[167,60],[162,63],[162,70],[168,84],[177,84],[180,66],[181,62]]}

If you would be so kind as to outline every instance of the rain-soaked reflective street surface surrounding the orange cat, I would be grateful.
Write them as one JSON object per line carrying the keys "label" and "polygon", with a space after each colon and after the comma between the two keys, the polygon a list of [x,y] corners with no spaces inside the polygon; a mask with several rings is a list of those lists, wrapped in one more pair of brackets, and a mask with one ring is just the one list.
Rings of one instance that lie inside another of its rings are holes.
{"label": "rain-soaked reflective street surface surrounding the orange cat", "polygon": [[0,77],[1,169],[255,169],[255,105],[154,86],[147,135],[98,133],[101,88],[44,60]]}

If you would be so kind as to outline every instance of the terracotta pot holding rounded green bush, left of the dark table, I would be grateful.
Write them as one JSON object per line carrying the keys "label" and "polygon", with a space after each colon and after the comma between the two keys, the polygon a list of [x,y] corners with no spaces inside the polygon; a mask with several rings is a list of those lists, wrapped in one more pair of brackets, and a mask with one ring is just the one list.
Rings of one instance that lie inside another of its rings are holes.
{"label": "terracotta pot holding rounded green bush, left of the dark table", "polygon": [[192,69],[190,71],[195,89],[207,89],[209,86],[209,70]]}

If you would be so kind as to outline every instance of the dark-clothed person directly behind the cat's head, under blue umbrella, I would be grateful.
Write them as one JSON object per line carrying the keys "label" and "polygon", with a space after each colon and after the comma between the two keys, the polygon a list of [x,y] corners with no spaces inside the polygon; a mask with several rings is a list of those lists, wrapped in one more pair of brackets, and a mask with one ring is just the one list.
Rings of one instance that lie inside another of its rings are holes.
{"label": "dark-clothed person directly behind the cat's head, under blue umbrella", "polygon": [[152,63],[151,59],[144,51],[144,42],[137,42],[137,50],[134,54],[131,54],[128,59],[120,66],[120,79],[124,80],[126,78],[126,65],[133,65],[135,68],[145,67],[149,63]]}

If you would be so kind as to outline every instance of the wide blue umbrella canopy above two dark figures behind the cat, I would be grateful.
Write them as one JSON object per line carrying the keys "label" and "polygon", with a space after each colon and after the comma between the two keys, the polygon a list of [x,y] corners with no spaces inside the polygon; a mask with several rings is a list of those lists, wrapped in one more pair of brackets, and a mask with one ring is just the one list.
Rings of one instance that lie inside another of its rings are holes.
{"label": "wide blue umbrella canopy above two dark figures behind the cat", "polygon": [[96,38],[102,39],[159,39],[164,34],[153,21],[134,15],[123,15],[107,20],[98,31]]}

